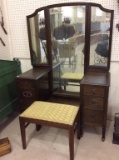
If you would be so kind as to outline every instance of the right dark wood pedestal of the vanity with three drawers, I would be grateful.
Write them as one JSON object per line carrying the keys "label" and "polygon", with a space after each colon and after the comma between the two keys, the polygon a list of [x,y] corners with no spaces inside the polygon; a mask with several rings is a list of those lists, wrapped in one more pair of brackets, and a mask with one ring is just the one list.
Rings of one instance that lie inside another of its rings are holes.
{"label": "right dark wood pedestal of the vanity with three drawers", "polygon": [[105,140],[107,103],[110,86],[109,73],[87,73],[81,81],[81,132],[83,125],[102,127],[102,140]]}

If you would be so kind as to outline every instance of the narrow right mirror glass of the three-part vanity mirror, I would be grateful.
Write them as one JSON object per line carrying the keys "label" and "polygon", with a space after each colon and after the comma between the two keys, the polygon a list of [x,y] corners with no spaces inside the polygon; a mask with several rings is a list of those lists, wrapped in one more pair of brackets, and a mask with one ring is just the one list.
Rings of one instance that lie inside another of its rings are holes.
{"label": "narrow right mirror glass of the three-part vanity mirror", "polygon": [[90,65],[107,66],[111,13],[91,7]]}

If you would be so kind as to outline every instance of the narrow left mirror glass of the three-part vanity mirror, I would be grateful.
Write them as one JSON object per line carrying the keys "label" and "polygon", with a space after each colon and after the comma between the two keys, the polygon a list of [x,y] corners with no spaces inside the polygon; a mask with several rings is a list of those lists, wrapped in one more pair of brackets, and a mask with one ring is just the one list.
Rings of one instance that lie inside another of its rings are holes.
{"label": "narrow left mirror glass of the three-part vanity mirror", "polygon": [[45,31],[44,10],[39,11],[35,16],[28,19],[31,39],[31,59],[34,64],[47,64],[47,40]]}

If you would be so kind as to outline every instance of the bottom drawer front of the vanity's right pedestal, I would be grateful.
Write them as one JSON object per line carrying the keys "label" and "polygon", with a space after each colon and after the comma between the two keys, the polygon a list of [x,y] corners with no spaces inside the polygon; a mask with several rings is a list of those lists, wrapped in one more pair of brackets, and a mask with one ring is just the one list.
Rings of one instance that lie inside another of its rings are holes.
{"label": "bottom drawer front of the vanity's right pedestal", "polygon": [[84,122],[96,123],[102,125],[103,122],[103,112],[91,109],[84,109]]}

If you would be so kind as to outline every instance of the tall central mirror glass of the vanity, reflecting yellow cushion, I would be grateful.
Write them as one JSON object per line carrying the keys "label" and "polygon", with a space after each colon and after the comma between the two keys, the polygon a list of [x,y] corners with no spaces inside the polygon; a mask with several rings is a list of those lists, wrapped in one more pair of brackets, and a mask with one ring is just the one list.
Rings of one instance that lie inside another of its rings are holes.
{"label": "tall central mirror glass of the vanity, reflecting yellow cushion", "polygon": [[85,6],[51,8],[50,26],[52,62],[61,64],[61,88],[79,92],[84,75]]}

